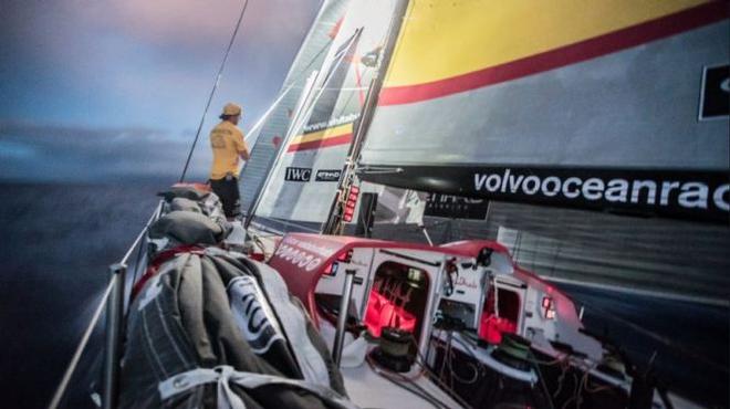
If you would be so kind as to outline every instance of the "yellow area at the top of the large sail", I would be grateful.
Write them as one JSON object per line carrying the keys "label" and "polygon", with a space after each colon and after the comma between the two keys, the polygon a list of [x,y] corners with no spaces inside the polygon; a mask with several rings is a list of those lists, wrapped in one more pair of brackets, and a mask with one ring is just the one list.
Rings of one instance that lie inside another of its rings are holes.
{"label": "yellow area at the top of the large sail", "polygon": [[504,64],[707,3],[708,0],[410,1],[386,87]]}

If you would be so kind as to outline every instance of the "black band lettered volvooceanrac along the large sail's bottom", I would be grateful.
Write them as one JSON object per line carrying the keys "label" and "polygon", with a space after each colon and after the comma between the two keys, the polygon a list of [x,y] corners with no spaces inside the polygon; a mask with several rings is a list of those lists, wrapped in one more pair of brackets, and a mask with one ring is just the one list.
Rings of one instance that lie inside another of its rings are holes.
{"label": "black band lettered volvooceanrac along the large sail's bottom", "polygon": [[722,170],[466,166],[399,169],[397,174],[362,174],[361,178],[462,197],[724,226],[730,214],[730,175]]}

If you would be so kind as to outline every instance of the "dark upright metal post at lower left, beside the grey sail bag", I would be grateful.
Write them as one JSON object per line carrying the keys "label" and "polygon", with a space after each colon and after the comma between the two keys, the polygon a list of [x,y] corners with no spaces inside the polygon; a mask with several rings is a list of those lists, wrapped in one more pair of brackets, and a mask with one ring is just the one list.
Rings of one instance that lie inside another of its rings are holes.
{"label": "dark upright metal post at lower left, beside the grey sail bag", "polygon": [[124,264],[112,264],[109,273],[114,282],[112,294],[106,303],[106,342],[104,348],[104,390],[102,408],[116,407],[116,396],[119,378],[119,352],[122,339],[122,323],[124,318],[124,283],[127,268]]}

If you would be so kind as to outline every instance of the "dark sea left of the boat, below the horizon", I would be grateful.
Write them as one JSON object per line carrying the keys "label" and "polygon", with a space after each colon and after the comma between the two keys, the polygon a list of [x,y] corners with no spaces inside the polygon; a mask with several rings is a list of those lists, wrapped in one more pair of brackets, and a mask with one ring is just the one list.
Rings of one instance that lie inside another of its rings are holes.
{"label": "dark sea left of the boat, below the horizon", "polygon": [[[166,186],[0,183],[1,408],[49,405],[108,280],[108,264],[122,258]],[[81,397],[102,338],[97,329],[69,408],[90,402]]]}

